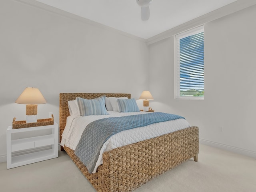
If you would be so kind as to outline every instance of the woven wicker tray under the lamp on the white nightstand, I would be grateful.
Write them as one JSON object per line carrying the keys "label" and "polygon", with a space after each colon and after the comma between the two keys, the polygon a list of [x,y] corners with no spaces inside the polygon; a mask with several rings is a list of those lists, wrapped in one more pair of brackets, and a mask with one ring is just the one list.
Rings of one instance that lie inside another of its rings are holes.
{"label": "woven wicker tray under the lamp on the white nightstand", "polygon": [[13,118],[12,121],[12,128],[13,129],[19,129],[19,128],[28,128],[28,127],[37,127],[37,126],[46,126],[46,125],[53,125],[53,114],[52,118],[48,119],[38,119],[37,122],[34,123],[26,123],[26,121],[15,121],[16,118]]}

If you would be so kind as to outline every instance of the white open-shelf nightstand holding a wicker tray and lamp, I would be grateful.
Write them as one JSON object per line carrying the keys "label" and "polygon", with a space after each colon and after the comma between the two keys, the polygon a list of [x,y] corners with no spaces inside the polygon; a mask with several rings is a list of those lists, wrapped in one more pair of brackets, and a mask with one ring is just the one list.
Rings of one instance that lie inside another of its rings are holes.
{"label": "white open-shelf nightstand holding a wicker tray and lamp", "polygon": [[[31,137],[28,137],[31,136]],[[58,157],[58,124],[6,130],[7,169]]]}

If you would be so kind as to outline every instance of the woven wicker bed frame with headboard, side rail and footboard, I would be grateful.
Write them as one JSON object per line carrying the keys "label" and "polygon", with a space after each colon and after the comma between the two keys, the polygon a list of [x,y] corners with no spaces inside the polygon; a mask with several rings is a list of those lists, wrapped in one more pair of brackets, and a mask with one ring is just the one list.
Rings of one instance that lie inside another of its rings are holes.
{"label": "woven wicker bed frame with headboard, side rail and footboard", "polygon": [[[130,94],[116,93],[60,93],[60,141],[70,115],[68,101],[76,97],[94,99],[103,95],[131,98]],[[88,172],[74,150],[66,146],[61,150],[67,152],[98,192],[130,192],[190,158],[198,161],[198,127],[191,126],[106,151],[103,164],[94,174]]]}

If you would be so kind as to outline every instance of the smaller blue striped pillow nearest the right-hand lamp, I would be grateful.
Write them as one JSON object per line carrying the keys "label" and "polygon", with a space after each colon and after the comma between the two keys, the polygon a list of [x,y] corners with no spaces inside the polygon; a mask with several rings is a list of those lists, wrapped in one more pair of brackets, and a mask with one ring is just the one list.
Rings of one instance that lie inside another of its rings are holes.
{"label": "smaller blue striped pillow nearest the right-hand lamp", "polygon": [[119,112],[140,112],[135,99],[117,99]]}

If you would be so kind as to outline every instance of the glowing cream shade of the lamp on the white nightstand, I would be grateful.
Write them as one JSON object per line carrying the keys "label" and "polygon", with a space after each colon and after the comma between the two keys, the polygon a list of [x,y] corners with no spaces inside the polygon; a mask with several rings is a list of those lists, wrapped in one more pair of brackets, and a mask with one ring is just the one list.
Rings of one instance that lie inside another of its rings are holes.
{"label": "glowing cream shade of the lamp on the white nightstand", "polygon": [[26,87],[15,102],[29,105],[47,103],[40,90],[34,87]]}

